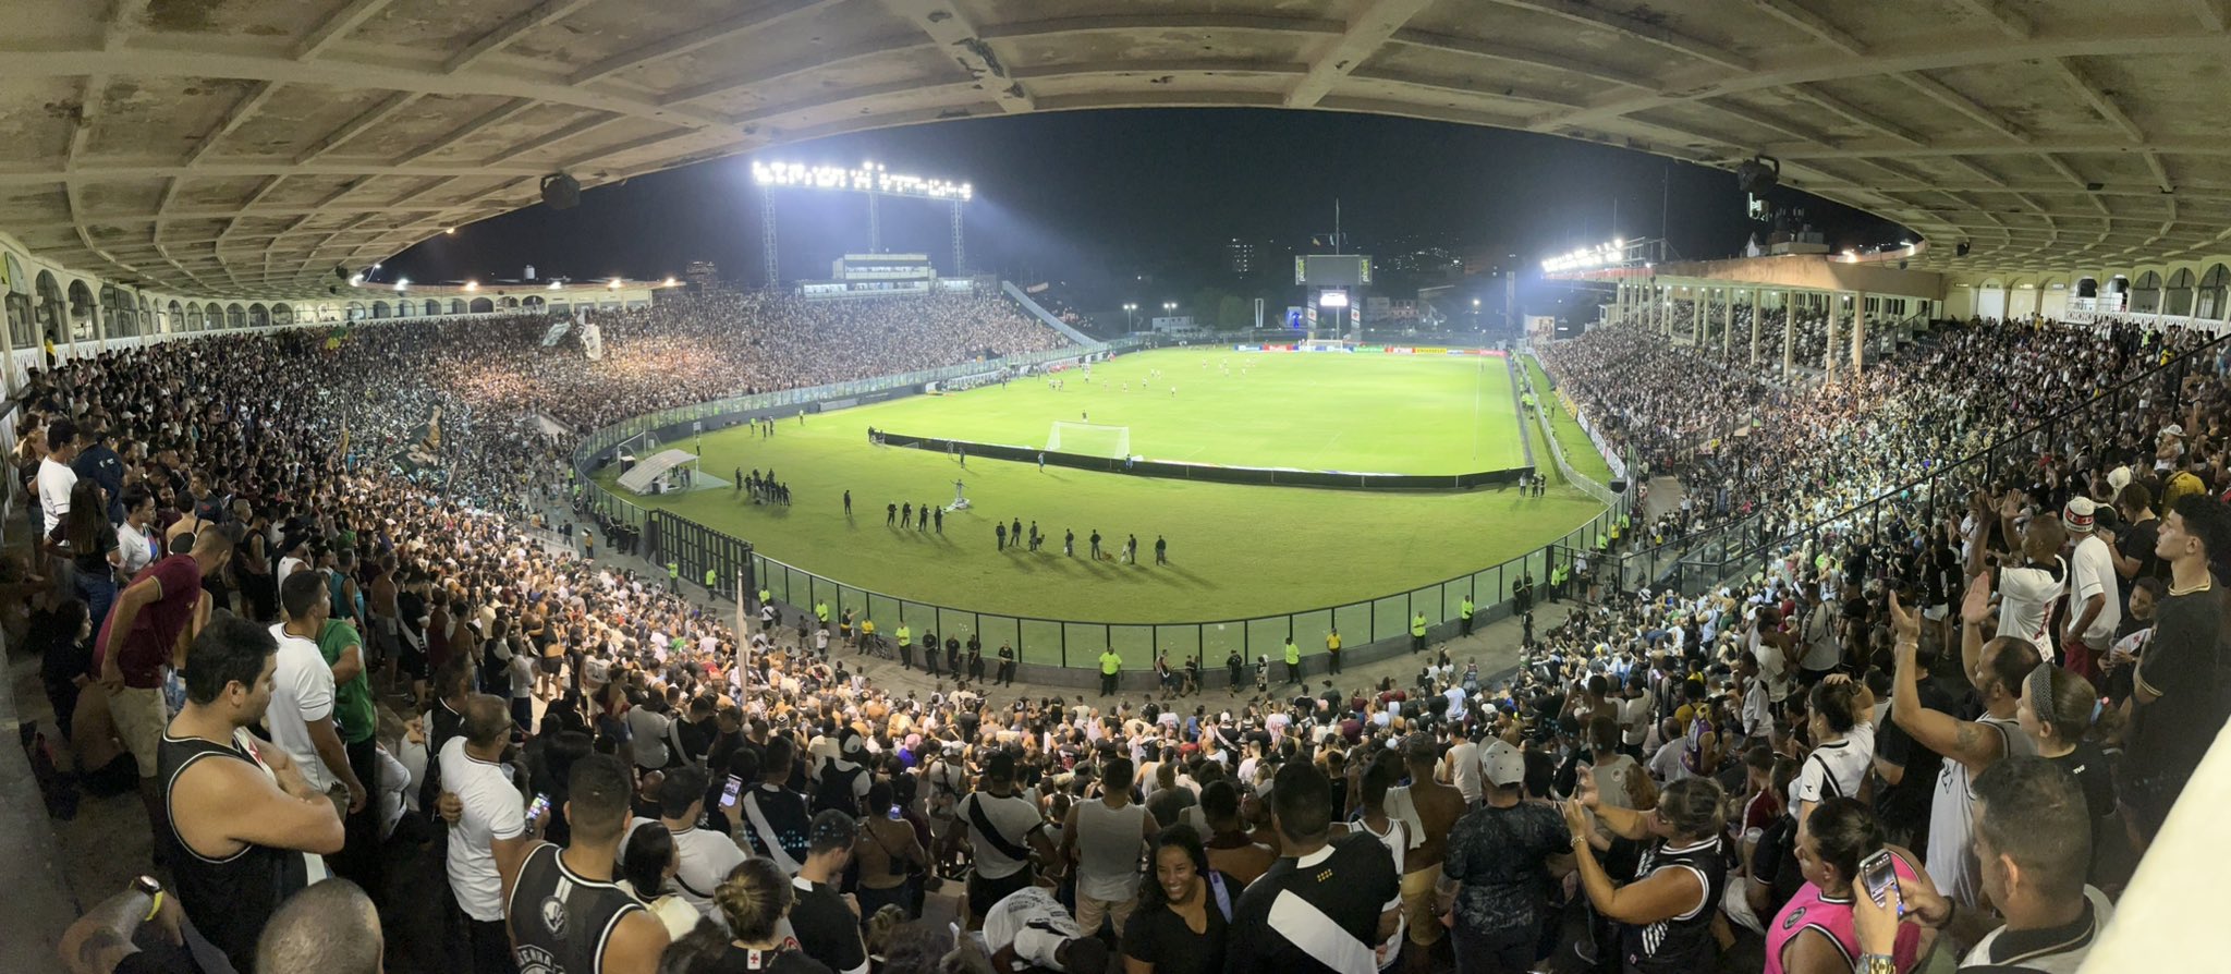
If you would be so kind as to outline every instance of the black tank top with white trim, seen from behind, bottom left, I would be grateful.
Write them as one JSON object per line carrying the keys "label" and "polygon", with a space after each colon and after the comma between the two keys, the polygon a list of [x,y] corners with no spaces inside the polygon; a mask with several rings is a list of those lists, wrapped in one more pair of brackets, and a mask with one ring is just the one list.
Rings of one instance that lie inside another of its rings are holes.
{"label": "black tank top with white trim, seen from behind, bottom left", "polygon": [[538,845],[527,854],[504,909],[520,972],[535,974],[598,972],[611,932],[636,912],[643,912],[643,903],[618,883],[567,869],[556,845]]}

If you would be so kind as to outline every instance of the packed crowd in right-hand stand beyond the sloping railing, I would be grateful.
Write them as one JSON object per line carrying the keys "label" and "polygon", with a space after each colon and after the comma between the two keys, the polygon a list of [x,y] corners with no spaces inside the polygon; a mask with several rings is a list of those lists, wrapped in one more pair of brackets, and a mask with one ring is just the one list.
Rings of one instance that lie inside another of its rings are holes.
{"label": "packed crowd in right-hand stand beyond the sloping railing", "polygon": [[[1974,323],[1863,374],[1783,388],[1613,325],[1544,352],[1613,446],[1696,497],[1687,530],[1754,513],[1783,539],[2198,348],[2191,330]],[[2153,403],[2160,408],[2160,403]]]}

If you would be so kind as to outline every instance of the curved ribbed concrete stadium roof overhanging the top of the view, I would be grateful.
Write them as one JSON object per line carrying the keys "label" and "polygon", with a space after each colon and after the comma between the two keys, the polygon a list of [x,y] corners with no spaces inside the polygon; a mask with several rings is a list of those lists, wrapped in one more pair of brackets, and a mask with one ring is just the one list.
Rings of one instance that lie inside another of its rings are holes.
{"label": "curved ribbed concrete stadium roof overhanging the top of the view", "polygon": [[[1095,107],[1372,111],[1731,165],[1930,267],[2220,250],[2231,0],[16,0],[0,227],[252,296],[781,143]],[[1972,241],[1968,259],[1952,243]]]}

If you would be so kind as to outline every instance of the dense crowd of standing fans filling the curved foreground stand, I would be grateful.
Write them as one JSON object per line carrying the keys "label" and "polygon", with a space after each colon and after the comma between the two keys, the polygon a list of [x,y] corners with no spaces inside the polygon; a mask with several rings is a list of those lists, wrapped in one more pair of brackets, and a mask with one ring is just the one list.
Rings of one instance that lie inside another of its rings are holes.
{"label": "dense crowd of standing fans filling the curved foreground stand", "polygon": [[[901,339],[861,357],[906,359]],[[736,633],[352,466],[433,432],[337,406],[406,372],[350,357],[384,341],[170,343],[29,390],[49,544],[4,582],[74,764],[136,778],[167,876],[80,921],[105,952],[76,970],[359,974],[386,918],[440,903],[388,970],[1698,972],[1762,936],[1769,972],[2059,972],[2224,722],[2220,386],[2073,428],[1961,510],[1939,490],[1758,579],[1553,620],[1510,682],[1441,651],[1408,686],[1209,707],[899,693],[830,646],[825,604],[761,593]],[[2050,361],[2157,352],[2090,341],[1952,337],[1937,354],[2006,383],[1959,403],[1890,379],[1825,408],[1729,397],[1791,441],[1745,457],[1742,504],[1787,488],[1794,524],[1820,510],[1809,477],[1863,484],[1807,450],[1910,466],[1932,452],[1905,444],[2064,401]],[[1617,435],[1716,470],[1655,439],[1689,417],[1653,363],[1687,403],[1740,390],[1622,332],[1559,352],[1568,381],[1624,390],[1591,401]],[[941,909],[968,934],[926,923]]]}

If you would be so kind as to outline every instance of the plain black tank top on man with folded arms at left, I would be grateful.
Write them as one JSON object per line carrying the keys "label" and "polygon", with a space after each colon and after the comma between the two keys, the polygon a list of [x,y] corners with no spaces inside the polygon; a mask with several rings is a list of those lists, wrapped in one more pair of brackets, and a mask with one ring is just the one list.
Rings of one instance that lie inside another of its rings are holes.
{"label": "plain black tank top on man with folded arms at left", "polygon": [[[268,773],[254,751],[239,740],[239,731],[234,731],[232,747],[165,733],[156,747],[156,773],[163,776],[165,811],[170,809],[170,796],[178,785],[178,776],[201,760],[241,760]],[[178,836],[176,814],[167,814],[165,818],[172,822],[167,829],[174,851],[170,865],[172,880],[178,887],[178,905],[185,907],[185,916],[194,921],[201,936],[225,952],[232,967],[241,972],[254,970],[257,936],[263,934],[263,923],[279,909],[279,903],[310,885],[303,854],[250,845],[228,858],[207,858],[187,847],[185,838]]]}

